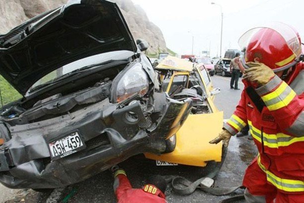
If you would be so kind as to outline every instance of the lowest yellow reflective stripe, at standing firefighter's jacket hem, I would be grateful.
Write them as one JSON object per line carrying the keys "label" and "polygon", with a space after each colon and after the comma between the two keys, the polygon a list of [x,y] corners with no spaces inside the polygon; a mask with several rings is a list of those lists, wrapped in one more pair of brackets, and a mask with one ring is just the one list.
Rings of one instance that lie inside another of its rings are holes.
{"label": "lowest yellow reflective stripe, at standing firefighter's jacket hem", "polygon": [[304,192],[304,181],[284,179],[268,171],[261,163],[260,154],[258,155],[258,165],[266,173],[267,181],[276,188],[286,192]]}

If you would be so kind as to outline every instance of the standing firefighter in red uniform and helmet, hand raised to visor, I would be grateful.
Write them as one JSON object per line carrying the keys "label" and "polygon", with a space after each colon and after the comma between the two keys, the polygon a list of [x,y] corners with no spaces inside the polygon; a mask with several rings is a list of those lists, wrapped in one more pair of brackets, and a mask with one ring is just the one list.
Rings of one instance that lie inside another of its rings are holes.
{"label": "standing firefighter in red uniform and helmet, hand raised to visor", "polygon": [[251,29],[246,47],[244,90],[220,135],[224,141],[249,125],[259,154],[243,185],[247,203],[304,203],[304,63],[294,28],[276,23]]}

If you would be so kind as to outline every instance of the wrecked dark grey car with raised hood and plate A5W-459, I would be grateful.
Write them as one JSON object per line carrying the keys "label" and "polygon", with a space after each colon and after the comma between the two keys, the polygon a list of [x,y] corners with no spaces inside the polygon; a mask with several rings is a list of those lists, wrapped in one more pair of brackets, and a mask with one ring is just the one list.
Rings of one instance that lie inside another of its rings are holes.
{"label": "wrecked dark grey car with raised hood and plate A5W-459", "polygon": [[163,153],[191,100],[158,91],[145,49],[106,0],[71,0],[0,35],[0,74],[23,95],[0,110],[0,182],[58,188]]}

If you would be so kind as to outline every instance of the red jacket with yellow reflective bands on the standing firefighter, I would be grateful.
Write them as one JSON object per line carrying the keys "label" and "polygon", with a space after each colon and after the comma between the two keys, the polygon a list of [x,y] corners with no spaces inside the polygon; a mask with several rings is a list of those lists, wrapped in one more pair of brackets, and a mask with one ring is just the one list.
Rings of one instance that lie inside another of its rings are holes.
{"label": "red jacket with yellow reflective bands on the standing firefighter", "polygon": [[260,168],[284,193],[304,193],[304,64],[295,72],[288,84],[275,76],[251,91],[243,81],[241,99],[224,125],[233,135],[249,125]]}

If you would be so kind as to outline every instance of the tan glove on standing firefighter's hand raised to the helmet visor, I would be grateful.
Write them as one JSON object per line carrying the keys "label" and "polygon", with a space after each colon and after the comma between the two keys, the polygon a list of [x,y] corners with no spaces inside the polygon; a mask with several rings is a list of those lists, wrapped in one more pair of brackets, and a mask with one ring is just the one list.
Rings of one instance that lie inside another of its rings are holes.
{"label": "tan glove on standing firefighter's hand raised to the helmet visor", "polygon": [[259,86],[265,85],[275,76],[273,70],[263,63],[249,62],[246,65],[249,68],[244,70],[243,78],[249,82],[257,83]]}

